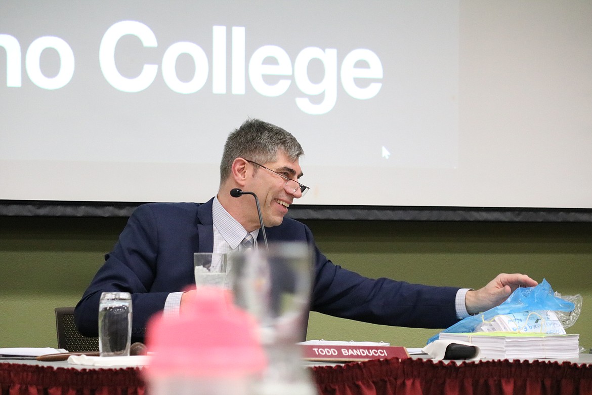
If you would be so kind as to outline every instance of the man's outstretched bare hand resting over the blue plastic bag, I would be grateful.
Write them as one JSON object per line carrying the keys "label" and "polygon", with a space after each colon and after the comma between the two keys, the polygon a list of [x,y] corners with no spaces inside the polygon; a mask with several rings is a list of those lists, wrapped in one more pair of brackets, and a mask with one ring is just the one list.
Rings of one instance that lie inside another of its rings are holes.
{"label": "man's outstretched bare hand resting over the blue plastic bag", "polygon": [[469,314],[477,314],[496,307],[518,287],[534,287],[538,282],[526,274],[498,274],[485,287],[466,293],[465,305]]}

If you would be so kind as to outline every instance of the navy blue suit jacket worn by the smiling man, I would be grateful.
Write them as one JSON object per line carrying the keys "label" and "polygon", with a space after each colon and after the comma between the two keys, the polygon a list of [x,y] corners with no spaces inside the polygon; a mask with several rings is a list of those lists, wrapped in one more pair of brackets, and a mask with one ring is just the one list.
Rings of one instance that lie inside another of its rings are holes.
{"label": "navy blue suit jacket worn by the smiling man", "polygon": [[[194,252],[213,251],[212,201],[150,203],[134,210],[113,251],[105,255],[105,264],[76,306],[79,330],[97,336],[101,293],[126,291],[133,301],[132,339],[143,341],[147,320],[163,309],[168,294],[195,284]],[[387,278],[374,280],[343,269],[318,250],[307,226],[289,218],[265,231],[269,242],[297,240],[313,246],[313,311],[409,327],[444,328],[458,321],[458,288]]]}

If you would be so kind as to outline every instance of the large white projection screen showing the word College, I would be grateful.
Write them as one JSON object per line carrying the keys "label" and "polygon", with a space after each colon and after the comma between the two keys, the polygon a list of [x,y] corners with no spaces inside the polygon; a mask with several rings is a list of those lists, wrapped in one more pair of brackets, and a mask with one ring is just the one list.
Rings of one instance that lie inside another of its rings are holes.
{"label": "large white projection screen showing the word College", "polygon": [[247,118],[302,205],[592,208],[592,2],[0,2],[0,200],[195,201]]}

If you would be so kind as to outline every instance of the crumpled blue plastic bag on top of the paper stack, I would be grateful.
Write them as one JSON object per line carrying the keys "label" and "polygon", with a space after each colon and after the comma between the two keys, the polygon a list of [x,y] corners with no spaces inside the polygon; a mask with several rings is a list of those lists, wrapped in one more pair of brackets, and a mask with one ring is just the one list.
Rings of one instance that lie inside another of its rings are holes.
{"label": "crumpled blue plastic bag on top of the paper stack", "polygon": [[[469,316],[448,327],[442,332],[468,333],[484,321],[493,319],[500,314],[522,313],[523,311],[572,311],[574,304],[554,295],[551,285],[543,278],[536,287],[518,288],[506,301],[493,309],[475,316]],[[439,334],[428,339],[431,343],[439,338]]]}

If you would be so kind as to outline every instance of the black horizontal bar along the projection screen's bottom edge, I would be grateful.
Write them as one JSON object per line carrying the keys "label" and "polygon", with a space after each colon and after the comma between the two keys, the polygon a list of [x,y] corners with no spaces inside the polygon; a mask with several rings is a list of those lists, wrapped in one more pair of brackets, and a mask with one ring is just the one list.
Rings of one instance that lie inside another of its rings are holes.
{"label": "black horizontal bar along the projection screen's bottom edge", "polygon": [[[0,216],[128,217],[141,203],[0,200]],[[592,208],[293,205],[298,220],[589,222]]]}

